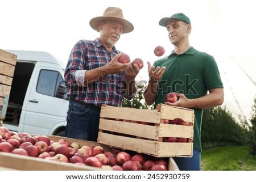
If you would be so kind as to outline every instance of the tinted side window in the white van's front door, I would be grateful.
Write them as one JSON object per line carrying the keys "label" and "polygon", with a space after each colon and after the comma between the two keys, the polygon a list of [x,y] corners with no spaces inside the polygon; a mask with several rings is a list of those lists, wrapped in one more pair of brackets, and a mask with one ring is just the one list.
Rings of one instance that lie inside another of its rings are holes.
{"label": "tinted side window in the white van's front door", "polygon": [[40,94],[54,96],[59,82],[63,81],[58,71],[41,70],[36,91]]}

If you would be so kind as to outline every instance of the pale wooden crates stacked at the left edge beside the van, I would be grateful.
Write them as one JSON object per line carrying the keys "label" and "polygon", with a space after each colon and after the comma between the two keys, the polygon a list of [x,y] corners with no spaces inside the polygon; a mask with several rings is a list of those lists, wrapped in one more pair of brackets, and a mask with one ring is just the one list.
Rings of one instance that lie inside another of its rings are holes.
{"label": "pale wooden crates stacked at the left edge beside the van", "polygon": [[0,126],[5,119],[17,56],[0,49]]}

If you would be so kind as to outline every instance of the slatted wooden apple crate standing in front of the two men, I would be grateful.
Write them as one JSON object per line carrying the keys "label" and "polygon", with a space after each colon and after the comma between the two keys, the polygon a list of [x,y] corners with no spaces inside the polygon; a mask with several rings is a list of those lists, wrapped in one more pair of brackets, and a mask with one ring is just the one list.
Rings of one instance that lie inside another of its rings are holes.
{"label": "slatted wooden apple crate standing in front of the two men", "polygon": [[[164,119],[175,118],[189,122],[189,126],[163,123]],[[102,105],[97,142],[156,157],[191,157],[194,118],[192,109],[165,104],[157,105],[154,110]],[[146,121],[152,125],[134,121]],[[163,137],[188,138],[188,142],[163,142]]]}

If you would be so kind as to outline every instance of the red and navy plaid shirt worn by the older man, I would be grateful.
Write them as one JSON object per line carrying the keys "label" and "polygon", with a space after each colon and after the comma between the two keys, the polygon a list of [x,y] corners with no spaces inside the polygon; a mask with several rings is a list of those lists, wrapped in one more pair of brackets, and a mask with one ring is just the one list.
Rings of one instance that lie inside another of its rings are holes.
{"label": "red and navy plaid shirt worn by the older man", "polygon": [[101,104],[121,106],[123,96],[126,99],[132,99],[137,90],[132,95],[127,95],[125,71],[119,74],[108,74],[87,86],[84,83],[78,84],[79,77],[76,73],[107,65],[119,53],[122,52],[115,46],[111,52],[106,50],[98,38],[94,41],[77,42],[71,51],[64,73],[65,84],[69,88],[71,98],[97,107],[101,107]]}

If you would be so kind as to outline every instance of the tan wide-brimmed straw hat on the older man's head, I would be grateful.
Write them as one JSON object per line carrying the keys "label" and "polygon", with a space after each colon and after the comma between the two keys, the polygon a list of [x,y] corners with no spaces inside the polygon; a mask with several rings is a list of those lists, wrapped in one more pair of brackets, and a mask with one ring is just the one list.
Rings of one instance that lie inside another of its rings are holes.
{"label": "tan wide-brimmed straw hat on the older man's head", "polygon": [[118,20],[119,22],[123,23],[123,32],[122,33],[129,33],[133,31],[134,27],[129,21],[123,18],[123,12],[118,7],[108,7],[102,16],[97,16],[90,20],[89,24],[97,32],[100,32],[98,29],[98,23],[102,20]]}

